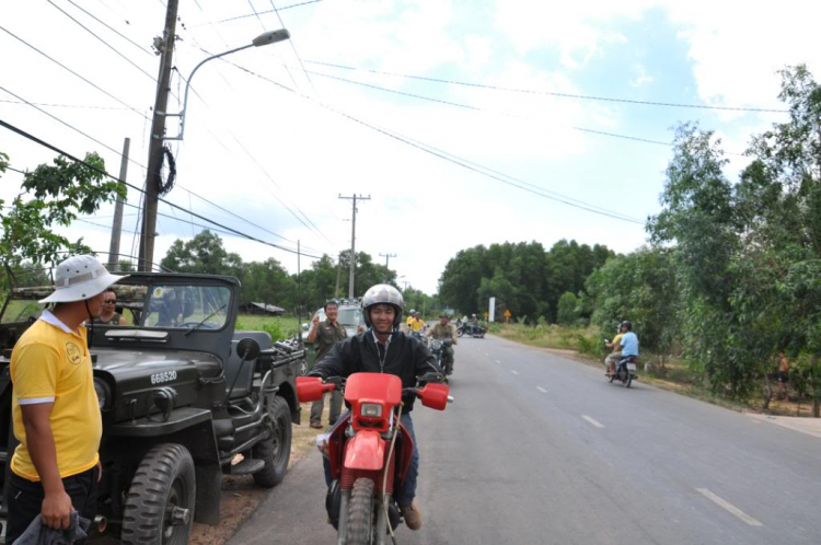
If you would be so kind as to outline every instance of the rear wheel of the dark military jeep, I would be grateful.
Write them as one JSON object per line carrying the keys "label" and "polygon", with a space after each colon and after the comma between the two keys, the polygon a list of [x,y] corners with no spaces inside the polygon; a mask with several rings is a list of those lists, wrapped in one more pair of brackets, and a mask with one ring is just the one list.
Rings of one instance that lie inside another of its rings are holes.
{"label": "rear wheel of the dark military jeep", "polygon": [[291,459],[291,410],[288,402],[278,395],[267,394],[266,404],[270,418],[270,437],[252,448],[252,456],[265,462],[265,467],[254,474],[257,485],[265,488],[277,486],[288,473]]}

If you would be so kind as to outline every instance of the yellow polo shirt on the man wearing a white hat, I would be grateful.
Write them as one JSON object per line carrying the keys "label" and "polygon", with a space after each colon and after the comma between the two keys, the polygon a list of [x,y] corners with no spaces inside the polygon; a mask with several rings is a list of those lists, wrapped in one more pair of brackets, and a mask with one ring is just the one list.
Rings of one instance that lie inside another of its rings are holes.
{"label": "yellow polo shirt on the man wearing a white hat", "polygon": [[83,473],[97,463],[103,420],[85,339],[85,327],[71,332],[45,311],[14,345],[12,414],[20,445],[11,469],[23,478],[39,480],[26,447],[20,405],[54,403],[49,420],[60,477]]}

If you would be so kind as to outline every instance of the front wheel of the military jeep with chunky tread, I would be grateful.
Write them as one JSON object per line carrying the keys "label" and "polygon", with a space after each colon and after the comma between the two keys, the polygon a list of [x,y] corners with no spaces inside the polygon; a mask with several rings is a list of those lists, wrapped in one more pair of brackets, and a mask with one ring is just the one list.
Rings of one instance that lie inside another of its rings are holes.
{"label": "front wheel of the military jeep with chunky tread", "polygon": [[182,444],[158,444],[131,480],[123,514],[125,545],[185,545],[194,524],[194,460]]}

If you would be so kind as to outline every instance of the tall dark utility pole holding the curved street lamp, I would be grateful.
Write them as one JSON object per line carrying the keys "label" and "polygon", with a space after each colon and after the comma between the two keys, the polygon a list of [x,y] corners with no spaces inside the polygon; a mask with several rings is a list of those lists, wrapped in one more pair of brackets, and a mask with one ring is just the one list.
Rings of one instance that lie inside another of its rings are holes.
{"label": "tall dark utility pole holding the curved street lamp", "polygon": [[151,138],[148,151],[148,173],[146,174],[146,205],[142,209],[140,230],[140,258],[138,270],[151,270],[154,260],[154,233],[157,231],[157,205],[160,194],[160,167],[163,161],[163,137],[165,136],[165,111],[169,104],[172,57],[176,32],[176,8],[180,0],[169,0],[165,12],[163,39],[160,40],[160,77],[157,81],[154,115],[151,121]]}

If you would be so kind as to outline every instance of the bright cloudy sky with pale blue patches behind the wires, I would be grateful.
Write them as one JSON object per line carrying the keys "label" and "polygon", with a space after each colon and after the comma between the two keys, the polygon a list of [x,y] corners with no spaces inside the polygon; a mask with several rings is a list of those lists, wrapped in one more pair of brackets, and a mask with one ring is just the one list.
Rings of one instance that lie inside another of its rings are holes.
{"label": "bright cloudy sky with pale blue patches behind the wires", "polygon": [[[163,2],[3,2],[0,24],[138,113],[125,109],[4,32],[0,32],[5,68],[0,86],[30,102],[62,104],[41,108],[114,150],[122,148],[123,138],[131,138],[134,163],[128,181],[142,185],[144,169],[140,164],[147,161],[148,124],[140,113],[150,115],[154,83],[123,56],[148,74],[157,73],[158,58],[78,7],[149,49],[161,32]],[[182,39],[175,51],[180,72],[187,77],[205,57],[200,47],[218,53],[279,27],[278,18],[269,12],[271,4],[287,5],[270,0],[252,0],[251,4],[182,0],[177,28]],[[252,5],[258,18],[251,12]],[[783,116],[472,89],[311,61],[534,91],[777,108],[777,69],[806,62],[817,74],[821,71],[821,50],[812,38],[820,10],[816,2],[797,0],[777,5],[765,1],[597,0],[557,5],[527,0],[323,0],[286,9],[280,16],[291,32],[291,44],[248,49],[229,58],[264,79],[220,61],[197,73],[194,86],[203,100],[192,97],[185,141],[172,144],[177,156],[177,187],[167,198],[254,236],[289,247],[296,247],[299,240],[309,252],[335,255],[350,244],[350,202],[338,195],[370,195],[357,217],[357,250],[374,257],[397,254],[391,259],[392,267],[403,280],[427,292],[437,289],[447,260],[475,244],[535,240],[550,247],[559,239],[576,239],[629,252],[645,242],[641,224],[505,185],[373,127],[435,146],[585,206],[644,220],[659,210],[671,150],[574,127],[670,141],[671,127],[695,120],[716,130],[728,150],[741,152],[752,134]],[[231,18],[240,19],[216,23]],[[478,111],[317,73],[309,77],[301,72],[300,60],[314,72]],[[176,91],[180,84],[175,78],[172,86]],[[16,101],[2,91],[0,100]],[[96,109],[100,107],[118,109]],[[180,104],[172,100],[170,109],[175,107]],[[115,151],[31,106],[0,102],[0,118],[72,153],[96,150],[111,172],[118,170]],[[0,149],[20,169],[34,167],[53,156],[9,132],[0,134]],[[744,164],[745,159],[732,156],[728,176],[735,178]],[[0,181],[0,196],[15,195],[19,184],[20,175],[8,173]],[[215,209],[196,195],[247,221]],[[137,192],[129,192],[129,204],[139,204]],[[127,214],[135,211],[126,209]],[[164,205],[160,211],[171,218],[160,218],[158,262],[176,237],[190,239],[199,231],[181,221],[184,213]],[[69,233],[106,250],[111,213],[106,207],[86,222],[78,222]],[[181,218],[175,220],[174,214]],[[311,221],[304,221],[305,217]],[[135,230],[136,216],[127,216],[126,221],[126,229]],[[132,235],[125,236],[124,246],[130,248]],[[275,257],[296,271],[292,254],[233,236],[223,240],[244,259]],[[310,259],[303,258],[303,266],[305,263]]]}

